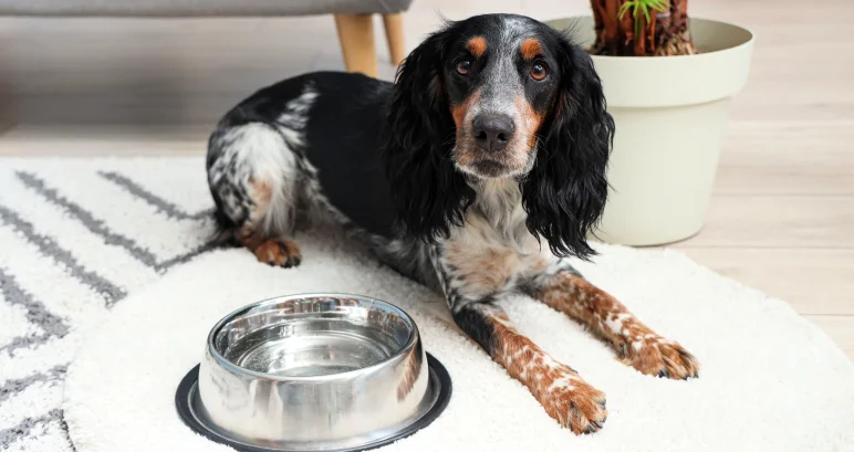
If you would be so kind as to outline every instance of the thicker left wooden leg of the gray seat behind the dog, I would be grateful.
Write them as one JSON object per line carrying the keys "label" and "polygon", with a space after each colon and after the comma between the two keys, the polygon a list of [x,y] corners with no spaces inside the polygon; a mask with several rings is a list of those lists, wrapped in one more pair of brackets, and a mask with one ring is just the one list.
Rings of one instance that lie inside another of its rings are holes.
{"label": "thicker left wooden leg of the gray seat behind the dog", "polygon": [[335,14],[344,66],[348,72],[361,72],[376,77],[376,46],[374,21],[371,14]]}

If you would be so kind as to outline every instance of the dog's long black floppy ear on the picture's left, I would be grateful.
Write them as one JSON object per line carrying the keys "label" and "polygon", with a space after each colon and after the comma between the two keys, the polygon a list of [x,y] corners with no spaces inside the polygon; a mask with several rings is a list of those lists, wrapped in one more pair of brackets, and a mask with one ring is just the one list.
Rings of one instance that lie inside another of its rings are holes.
{"label": "dog's long black floppy ear on the picture's left", "polygon": [[397,72],[383,136],[386,176],[402,233],[447,236],[475,198],[451,159],[455,125],[442,64],[451,32],[429,35]]}

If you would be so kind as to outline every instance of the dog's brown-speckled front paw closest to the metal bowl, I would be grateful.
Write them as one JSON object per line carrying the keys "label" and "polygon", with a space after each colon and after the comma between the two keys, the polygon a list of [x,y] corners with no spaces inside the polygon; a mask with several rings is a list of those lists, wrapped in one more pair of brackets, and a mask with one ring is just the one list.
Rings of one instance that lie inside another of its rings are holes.
{"label": "dog's brown-speckled front paw closest to the metal bowl", "polygon": [[[543,387],[540,403],[545,412],[575,434],[593,433],[607,419],[605,393],[584,381],[571,369],[562,369],[561,377]],[[540,379],[540,381],[549,379]]]}

